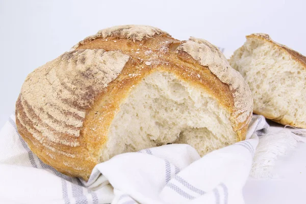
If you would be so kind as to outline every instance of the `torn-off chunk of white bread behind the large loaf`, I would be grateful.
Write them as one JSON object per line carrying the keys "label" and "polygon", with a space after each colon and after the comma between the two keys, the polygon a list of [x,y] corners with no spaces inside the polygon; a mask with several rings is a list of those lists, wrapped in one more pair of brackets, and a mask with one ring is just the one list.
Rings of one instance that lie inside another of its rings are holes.
{"label": "torn-off chunk of white bread behind the large loaf", "polygon": [[252,34],[229,61],[252,91],[254,113],[306,128],[306,57],[267,34]]}

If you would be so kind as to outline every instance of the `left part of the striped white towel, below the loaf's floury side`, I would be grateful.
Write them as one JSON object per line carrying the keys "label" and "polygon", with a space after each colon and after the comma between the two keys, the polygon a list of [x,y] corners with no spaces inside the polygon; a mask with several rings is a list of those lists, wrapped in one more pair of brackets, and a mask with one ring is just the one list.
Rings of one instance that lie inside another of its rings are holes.
{"label": "left part of the striped white towel, below the loaf's floury side", "polygon": [[[100,181],[100,180],[99,180]],[[0,132],[0,203],[111,203],[112,186],[86,188],[79,178],[44,164],[17,132],[12,115]]]}

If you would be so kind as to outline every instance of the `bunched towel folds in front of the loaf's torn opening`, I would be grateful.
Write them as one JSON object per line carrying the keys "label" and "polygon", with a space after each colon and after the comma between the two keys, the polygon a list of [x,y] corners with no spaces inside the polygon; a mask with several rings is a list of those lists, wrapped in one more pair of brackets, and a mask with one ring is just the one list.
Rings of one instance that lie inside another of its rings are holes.
{"label": "bunched towel folds in front of the loaf's torn opening", "polygon": [[114,187],[113,203],[243,203],[258,137],[200,158],[189,145],[171,144],[116,156],[96,169]]}

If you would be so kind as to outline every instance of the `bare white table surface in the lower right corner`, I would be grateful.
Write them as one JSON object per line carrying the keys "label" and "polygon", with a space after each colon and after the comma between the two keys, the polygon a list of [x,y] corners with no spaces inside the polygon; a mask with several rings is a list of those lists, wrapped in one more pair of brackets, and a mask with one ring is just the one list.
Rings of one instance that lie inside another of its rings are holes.
{"label": "bare white table surface in the lower right corner", "polygon": [[278,179],[247,181],[243,190],[247,204],[306,203],[306,143],[279,157],[274,173]]}

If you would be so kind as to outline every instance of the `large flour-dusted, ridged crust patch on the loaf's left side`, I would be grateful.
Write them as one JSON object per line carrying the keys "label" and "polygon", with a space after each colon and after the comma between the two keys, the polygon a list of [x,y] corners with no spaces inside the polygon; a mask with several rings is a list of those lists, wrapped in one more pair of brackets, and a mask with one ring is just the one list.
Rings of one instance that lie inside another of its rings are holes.
{"label": "large flour-dusted, ridged crust patch on the loaf's left side", "polygon": [[80,49],[37,68],[21,88],[19,123],[46,148],[49,142],[79,146],[85,111],[129,58],[119,51]]}

